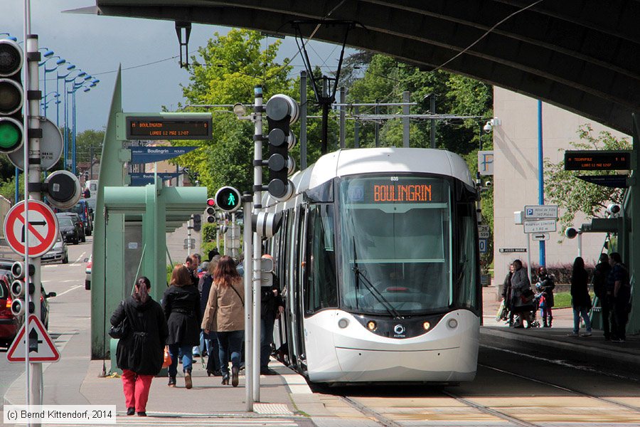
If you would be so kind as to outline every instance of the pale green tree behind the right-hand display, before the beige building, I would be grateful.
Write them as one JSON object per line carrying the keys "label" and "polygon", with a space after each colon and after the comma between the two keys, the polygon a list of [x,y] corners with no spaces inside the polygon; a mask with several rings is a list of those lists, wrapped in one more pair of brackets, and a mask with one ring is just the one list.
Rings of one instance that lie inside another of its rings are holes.
{"label": "pale green tree behind the right-hand display, before the beige building", "polygon": [[[581,125],[577,130],[579,141],[569,144],[573,149],[631,149],[626,139],[617,139],[610,132],[602,131],[594,135],[591,125]],[[564,152],[564,149],[558,151]],[[610,175],[615,171],[580,171],[581,175]],[[578,212],[587,218],[602,216],[610,202],[622,204],[623,189],[590,184],[577,178],[574,171],[565,171],[565,162],[553,163],[545,158],[545,192],[550,204],[557,204],[564,210],[560,216],[562,230],[571,226]]]}

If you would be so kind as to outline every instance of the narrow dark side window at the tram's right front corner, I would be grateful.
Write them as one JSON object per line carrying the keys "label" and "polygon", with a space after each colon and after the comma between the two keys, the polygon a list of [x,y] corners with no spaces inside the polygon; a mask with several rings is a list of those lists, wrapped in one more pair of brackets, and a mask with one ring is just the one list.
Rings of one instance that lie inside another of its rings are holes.
{"label": "narrow dark side window at the tram's right front corner", "polygon": [[476,274],[475,209],[473,204],[458,204],[458,305],[476,309],[478,307],[478,277]]}

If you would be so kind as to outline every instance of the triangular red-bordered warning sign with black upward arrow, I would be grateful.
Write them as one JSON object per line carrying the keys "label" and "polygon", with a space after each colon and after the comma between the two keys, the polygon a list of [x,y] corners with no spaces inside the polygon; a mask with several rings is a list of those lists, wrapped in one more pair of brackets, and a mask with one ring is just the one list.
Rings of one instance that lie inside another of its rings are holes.
{"label": "triangular red-bordered warning sign with black upward arrow", "polygon": [[[26,332],[28,331],[28,332]],[[29,315],[29,321],[22,325],[20,332],[11,343],[6,359],[9,362],[24,362],[25,335],[29,346],[29,362],[58,362],[60,352],[53,345],[47,330],[35,315]]]}

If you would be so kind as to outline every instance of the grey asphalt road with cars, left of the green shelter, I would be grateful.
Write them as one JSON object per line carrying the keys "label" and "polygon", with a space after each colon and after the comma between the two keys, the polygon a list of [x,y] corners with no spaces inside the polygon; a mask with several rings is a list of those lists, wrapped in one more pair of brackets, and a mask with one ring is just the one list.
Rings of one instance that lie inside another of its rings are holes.
{"label": "grey asphalt road with cars, left of the green shelter", "polygon": [[[42,267],[43,288],[47,292],[58,294],[49,300],[49,334],[54,342],[60,339],[55,325],[60,325],[61,320],[89,318],[89,292],[85,290],[84,259],[89,257],[91,246],[91,237],[87,237],[86,243],[68,246],[68,264],[46,264]],[[24,372],[24,364],[9,363],[5,355],[6,348],[0,349],[0,397],[4,396],[11,383]],[[1,400],[0,404],[3,404]]]}

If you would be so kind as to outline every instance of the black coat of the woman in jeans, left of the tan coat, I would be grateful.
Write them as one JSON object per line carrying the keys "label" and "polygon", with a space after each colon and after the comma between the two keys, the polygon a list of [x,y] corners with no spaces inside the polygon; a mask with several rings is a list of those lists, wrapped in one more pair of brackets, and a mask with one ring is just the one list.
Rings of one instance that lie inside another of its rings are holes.
{"label": "black coat of the woman in jeans, left of the tan coat", "polygon": [[164,291],[162,308],[169,327],[166,344],[200,344],[200,292],[193,285],[171,285]]}

